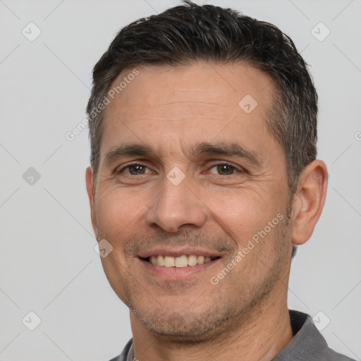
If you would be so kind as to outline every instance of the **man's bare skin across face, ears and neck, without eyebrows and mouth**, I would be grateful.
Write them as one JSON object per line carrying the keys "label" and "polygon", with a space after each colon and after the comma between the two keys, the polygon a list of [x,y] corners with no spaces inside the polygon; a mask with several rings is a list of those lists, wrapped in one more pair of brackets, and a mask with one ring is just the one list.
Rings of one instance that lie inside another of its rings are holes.
{"label": "man's bare skin across face, ears and neck, without eyebrows and mouth", "polygon": [[[135,357],[271,360],[293,337],[287,307],[292,243],[312,235],[326,197],[326,166],[317,160],[305,168],[287,217],[286,158],[264,120],[274,89],[267,74],[245,63],[137,69],[137,78],[106,106],[95,192],[92,169],[86,172],[94,233],[113,247],[102,264],[130,308]],[[250,114],[238,106],[247,94],[257,101]],[[152,152],[109,161],[107,154],[125,143]],[[259,164],[239,155],[197,154],[199,143],[236,143],[257,154]],[[217,166],[225,162],[230,166]],[[126,168],[130,164],[142,167]],[[178,185],[167,178],[174,167],[185,177]],[[252,236],[277,215],[281,221],[245,255]],[[138,257],[154,247],[184,246],[221,258],[197,274],[175,272],[168,279]],[[235,262],[238,252],[244,257]],[[235,267],[212,284],[232,261]]]}

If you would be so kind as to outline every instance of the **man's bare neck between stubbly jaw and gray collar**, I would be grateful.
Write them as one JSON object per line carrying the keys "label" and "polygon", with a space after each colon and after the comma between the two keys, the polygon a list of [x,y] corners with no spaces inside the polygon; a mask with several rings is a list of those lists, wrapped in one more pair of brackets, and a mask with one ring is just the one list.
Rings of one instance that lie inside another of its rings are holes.
{"label": "man's bare neck between stubbly jaw and gray collar", "polygon": [[208,341],[177,343],[149,332],[131,312],[134,357],[139,361],[269,361],[293,338],[286,300],[262,305],[262,310],[247,315],[247,322],[237,321]]}

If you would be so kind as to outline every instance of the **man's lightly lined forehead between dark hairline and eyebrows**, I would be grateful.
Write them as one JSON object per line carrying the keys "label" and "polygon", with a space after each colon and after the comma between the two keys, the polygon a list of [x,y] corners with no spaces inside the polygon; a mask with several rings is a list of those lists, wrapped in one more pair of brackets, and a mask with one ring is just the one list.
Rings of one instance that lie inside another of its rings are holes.
{"label": "man's lightly lined forehead between dark hairline and eyebrows", "polygon": [[246,138],[257,146],[269,136],[264,119],[273,85],[266,73],[246,63],[135,68],[136,76],[133,68],[124,69],[112,85],[118,92],[105,109],[101,153],[124,140],[161,150],[171,141],[215,138]]}

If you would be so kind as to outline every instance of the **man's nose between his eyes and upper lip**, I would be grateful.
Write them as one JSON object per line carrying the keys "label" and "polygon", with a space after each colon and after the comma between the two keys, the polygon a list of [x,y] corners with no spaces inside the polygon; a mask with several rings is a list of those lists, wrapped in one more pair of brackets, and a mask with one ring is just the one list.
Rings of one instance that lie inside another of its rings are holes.
{"label": "man's nose between his eyes and upper lip", "polygon": [[185,225],[202,227],[207,219],[207,207],[191,190],[187,177],[179,184],[169,179],[164,177],[158,195],[147,209],[147,225],[171,233]]}

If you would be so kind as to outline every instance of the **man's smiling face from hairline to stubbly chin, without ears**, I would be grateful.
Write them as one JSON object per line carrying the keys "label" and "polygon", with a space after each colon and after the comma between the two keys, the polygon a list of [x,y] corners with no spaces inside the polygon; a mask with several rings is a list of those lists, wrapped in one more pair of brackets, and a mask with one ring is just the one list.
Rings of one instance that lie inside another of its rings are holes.
{"label": "man's smiling face from hairline to stubbly chin, without ears", "polygon": [[134,322],[195,341],[286,300],[286,160],[265,122],[274,87],[245,64],[137,69],[106,106],[93,226]]}

